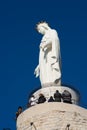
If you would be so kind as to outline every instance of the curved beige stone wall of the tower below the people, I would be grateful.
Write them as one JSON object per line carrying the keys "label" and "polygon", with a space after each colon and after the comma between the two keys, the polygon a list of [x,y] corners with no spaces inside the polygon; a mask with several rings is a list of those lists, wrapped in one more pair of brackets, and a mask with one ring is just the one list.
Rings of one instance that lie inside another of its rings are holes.
{"label": "curved beige stone wall of the tower below the people", "polygon": [[87,110],[67,103],[38,104],[19,115],[17,130],[87,130]]}

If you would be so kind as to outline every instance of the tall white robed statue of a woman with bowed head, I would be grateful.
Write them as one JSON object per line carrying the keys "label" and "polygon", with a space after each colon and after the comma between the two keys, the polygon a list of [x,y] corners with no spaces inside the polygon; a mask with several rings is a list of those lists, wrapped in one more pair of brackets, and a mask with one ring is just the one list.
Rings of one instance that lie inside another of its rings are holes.
{"label": "tall white robed statue of a woman with bowed head", "polygon": [[56,30],[46,22],[37,24],[37,31],[43,35],[40,43],[39,64],[34,74],[40,77],[41,85],[61,85],[60,42]]}

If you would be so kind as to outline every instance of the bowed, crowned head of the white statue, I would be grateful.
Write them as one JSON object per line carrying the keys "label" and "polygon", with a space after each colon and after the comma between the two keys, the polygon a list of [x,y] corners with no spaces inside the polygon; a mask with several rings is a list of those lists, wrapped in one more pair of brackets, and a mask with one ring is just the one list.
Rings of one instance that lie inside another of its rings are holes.
{"label": "bowed, crowned head of the white statue", "polygon": [[49,25],[48,23],[46,22],[39,22],[37,25],[36,25],[36,30],[41,33],[41,34],[45,34],[45,32],[49,29]]}

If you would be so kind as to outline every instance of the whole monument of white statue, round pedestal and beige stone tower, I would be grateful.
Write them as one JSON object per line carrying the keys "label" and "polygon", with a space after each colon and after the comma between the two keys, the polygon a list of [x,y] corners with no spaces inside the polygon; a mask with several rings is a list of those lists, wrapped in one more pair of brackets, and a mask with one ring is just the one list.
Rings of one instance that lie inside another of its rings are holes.
{"label": "whole monument of white statue, round pedestal and beige stone tower", "polygon": [[[61,85],[60,46],[57,33],[46,22],[39,23],[37,30],[44,35],[40,44],[39,65],[35,69],[42,87],[33,95],[39,99],[39,95],[43,94],[46,101],[22,112],[17,118],[17,130],[87,130],[87,110],[79,106],[79,93]],[[50,96],[54,97],[56,90],[61,94],[67,90],[72,97],[71,103],[64,102],[63,97],[61,102],[48,102]]]}

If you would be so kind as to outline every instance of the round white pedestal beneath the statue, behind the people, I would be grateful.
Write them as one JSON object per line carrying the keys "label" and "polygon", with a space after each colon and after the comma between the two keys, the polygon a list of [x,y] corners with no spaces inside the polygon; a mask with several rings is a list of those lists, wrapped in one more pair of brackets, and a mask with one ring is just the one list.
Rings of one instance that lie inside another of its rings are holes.
{"label": "round white pedestal beneath the statue, behind the people", "polygon": [[55,86],[55,85],[50,87],[46,86],[44,88],[37,90],[35,93],[33,93],[33,95],[38,99],[39,94],[42,93],[46,97],[46,100],[48,101],[49,97],[53,96],[56,90],[59,90],[60,93],[62,93],[64,90],[68,90],[72,95],[72,103],[73,104],[79,103],[79,93],[66,86]]}

